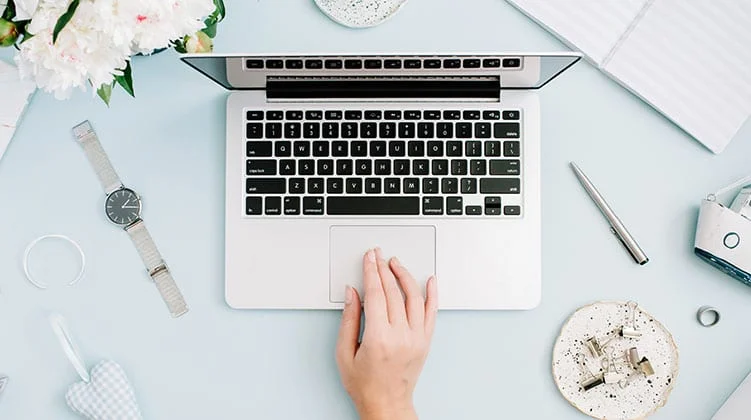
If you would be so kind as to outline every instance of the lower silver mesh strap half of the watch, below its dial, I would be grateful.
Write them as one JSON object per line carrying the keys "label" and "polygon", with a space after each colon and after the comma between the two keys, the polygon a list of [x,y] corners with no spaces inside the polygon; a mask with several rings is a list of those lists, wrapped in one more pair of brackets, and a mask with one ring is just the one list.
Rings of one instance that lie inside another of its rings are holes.
{"label": "lower silver mesh strap half of the watch, below its dial", "polygon": [[180,293],[180,289],[172,278],[172,274],[170,274],[169,268],[162,259],[162,255],[159,253],[149,231],[146,230],[146,224],[143,223],[143,220],[138,220],[126,227],[125,231],[133,240],[138,254],[146,265],[149,276],[156,283],[156,287],[159,289],[159,293],[172,316],[177,318],[187,313],[188,305],[185,303],[185,298]]}

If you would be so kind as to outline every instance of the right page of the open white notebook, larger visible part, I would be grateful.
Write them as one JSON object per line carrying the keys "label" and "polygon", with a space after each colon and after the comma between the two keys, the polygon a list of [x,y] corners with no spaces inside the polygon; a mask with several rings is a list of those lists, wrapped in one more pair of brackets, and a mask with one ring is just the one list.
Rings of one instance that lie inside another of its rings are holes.
{"label": "right page of the open white notebook, larger visible part", "polygon": [[715,153],[751,116],[751,2],[655,0],[604,70]]}

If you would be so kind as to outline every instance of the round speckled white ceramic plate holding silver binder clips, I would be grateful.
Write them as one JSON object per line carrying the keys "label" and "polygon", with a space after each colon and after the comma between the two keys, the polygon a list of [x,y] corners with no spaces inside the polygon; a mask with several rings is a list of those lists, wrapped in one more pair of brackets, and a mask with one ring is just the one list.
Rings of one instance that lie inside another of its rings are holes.
{"label": "round speckled white ceramic plate holding silver binder clips", "polygon": [[[613,354],[622,355],[636,347],[646,356],[655,374],[644,376],[625,363],[621,372],[631,374],[626,388],[605,384],[584,391],[581,382],[587,370],[579,366],[578,354],[586,355],[588,370],[597,374],[602,366],[588,352],[585,340],[604,339],[629,321],[625,302],[597,302],[577,310],[561,330],[553,349],[553,377],[558,389],[571,405],[597,419],[642,419],[667,403],[678,375],[678,348],[668,330],[652,315],[638,308],[635,325],[639,339],[618,338],[610,342]],[[581,358],[581,356],[579,356]]]}

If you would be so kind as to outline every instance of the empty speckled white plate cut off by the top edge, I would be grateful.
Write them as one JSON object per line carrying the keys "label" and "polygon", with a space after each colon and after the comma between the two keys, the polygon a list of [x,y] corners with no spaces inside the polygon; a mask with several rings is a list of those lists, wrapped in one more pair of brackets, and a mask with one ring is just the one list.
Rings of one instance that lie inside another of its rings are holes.
{"label": "empty speckled white plate cut off by the top edge", "polygon": [[401,9],[407,0],[315,0],[335,22],[350,28],[379,25]]}

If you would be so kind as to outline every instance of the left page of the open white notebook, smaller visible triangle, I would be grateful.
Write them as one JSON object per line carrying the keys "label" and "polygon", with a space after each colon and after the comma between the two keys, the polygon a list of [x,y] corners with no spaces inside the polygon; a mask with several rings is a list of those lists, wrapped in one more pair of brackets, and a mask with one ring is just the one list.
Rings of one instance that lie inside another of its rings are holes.
{"label": "left page of the open white notebook, smaller visible triangle", "polygon": [[600,64],[648,0],[508,0]]}

